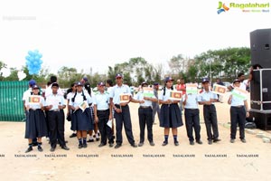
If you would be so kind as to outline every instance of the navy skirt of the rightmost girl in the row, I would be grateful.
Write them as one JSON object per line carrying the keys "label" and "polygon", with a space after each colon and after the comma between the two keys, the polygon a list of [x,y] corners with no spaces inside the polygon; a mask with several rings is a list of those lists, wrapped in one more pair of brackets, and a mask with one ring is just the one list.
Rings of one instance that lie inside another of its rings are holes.
{"label": "navy skirt of the rightmost girl in the row", "polygon": [[163,104],[160,112],[160,127],[178,128],[182,125],[182,115],[178,104]]}

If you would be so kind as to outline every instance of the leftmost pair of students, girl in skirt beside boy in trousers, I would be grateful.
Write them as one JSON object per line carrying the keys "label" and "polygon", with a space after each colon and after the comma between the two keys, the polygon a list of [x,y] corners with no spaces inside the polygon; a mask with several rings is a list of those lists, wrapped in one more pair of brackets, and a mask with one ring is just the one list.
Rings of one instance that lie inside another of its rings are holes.
{"label": "leftmost pair of students, girl in skirt beside boy in trousers", "polygon": [[57,143],[62,149],[69,150],[64,137],[64,109],[66,102],[59,89],[56,76],[51,76],[44,98],[41,89],[34,80],[29,81],[29,90],[23,93],[23,108],[26,115],[25,138],[29,147],[26,153],[33,150],[37,139],[38,150],[42,151],[42,137],[49,137],[51,151]]}

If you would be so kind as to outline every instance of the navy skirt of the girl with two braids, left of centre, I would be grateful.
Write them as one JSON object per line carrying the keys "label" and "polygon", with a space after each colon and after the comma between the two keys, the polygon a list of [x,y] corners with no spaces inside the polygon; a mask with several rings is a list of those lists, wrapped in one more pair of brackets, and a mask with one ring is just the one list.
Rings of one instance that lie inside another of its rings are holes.
{"label": "navy skirt of the girl with two braids, left of centre", "polygon": [[93,130],[93,119],[91,118],[90,109],[87,108],[84,112],[76,110],[71,114],[71,130]]}

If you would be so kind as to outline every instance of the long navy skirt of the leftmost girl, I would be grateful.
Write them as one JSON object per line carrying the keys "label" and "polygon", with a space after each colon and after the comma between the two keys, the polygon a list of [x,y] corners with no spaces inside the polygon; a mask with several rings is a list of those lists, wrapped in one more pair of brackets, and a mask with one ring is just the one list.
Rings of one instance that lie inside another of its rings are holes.
{"label": "long navy skirt of the leftmost girl", "polygon": [[47,124],[44,112],[39,110],[29,110],[28,119],[25,122],[24,138],[42,138],[47,136]]}

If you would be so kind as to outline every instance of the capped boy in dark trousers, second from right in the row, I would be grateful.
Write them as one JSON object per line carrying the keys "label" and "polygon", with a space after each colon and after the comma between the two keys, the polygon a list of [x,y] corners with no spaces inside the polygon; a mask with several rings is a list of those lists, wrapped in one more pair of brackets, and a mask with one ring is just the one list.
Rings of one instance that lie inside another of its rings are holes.
{"label": "capped boy in dark trousers, second from right in the row", "polygon": [[214,105],[218,102],[218,94],[210,90],[210,81],[208,78],[203,78],[202,81],[203,91],[199,95],[199,104],[203,105],[203,117],[207,131],[208,144],[220,141],[217,110]]}

